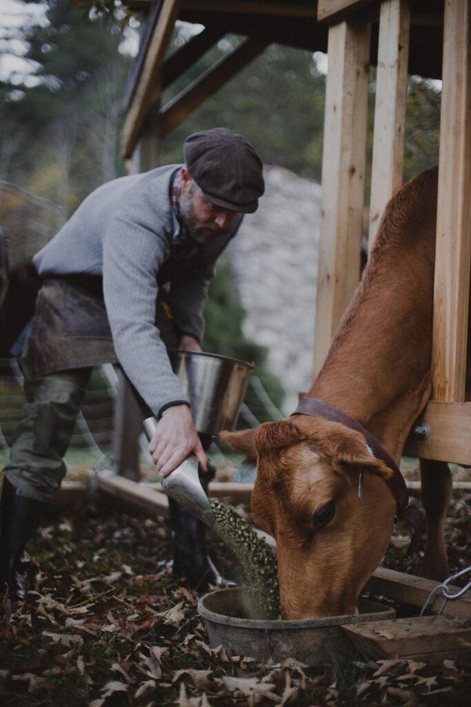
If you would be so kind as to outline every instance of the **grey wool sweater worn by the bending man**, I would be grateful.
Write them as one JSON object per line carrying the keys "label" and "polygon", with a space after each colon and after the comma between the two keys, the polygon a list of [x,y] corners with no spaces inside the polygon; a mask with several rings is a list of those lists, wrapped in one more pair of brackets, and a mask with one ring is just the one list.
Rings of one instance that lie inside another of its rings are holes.
{"label": "grey wool sweater worn by the bending man", "polygon": [[102,185],[33,258],[42,276],[103,277],[114,349],[157,418],[186,399],[155,327],[158,289],[167,284],[179,333],[201,340],[215,262],[242,221],[235,218],[213,243],[198,245],[191,237],[181,243],[170,201],[172,178],[180,168],[167,165]]}

